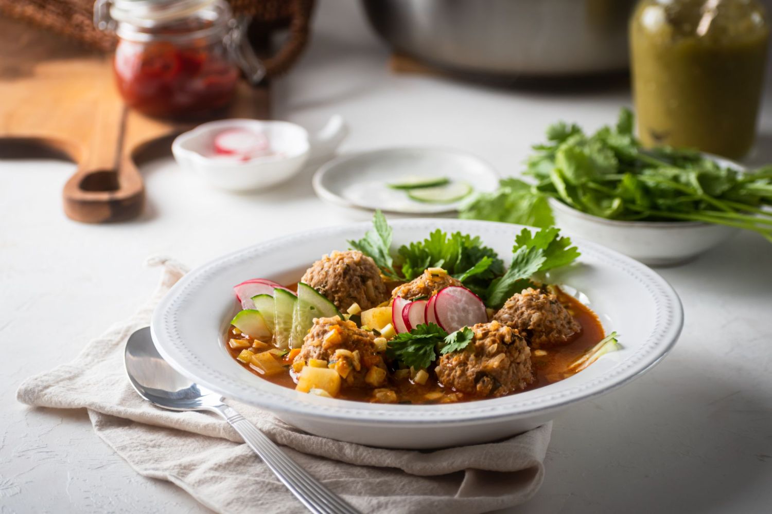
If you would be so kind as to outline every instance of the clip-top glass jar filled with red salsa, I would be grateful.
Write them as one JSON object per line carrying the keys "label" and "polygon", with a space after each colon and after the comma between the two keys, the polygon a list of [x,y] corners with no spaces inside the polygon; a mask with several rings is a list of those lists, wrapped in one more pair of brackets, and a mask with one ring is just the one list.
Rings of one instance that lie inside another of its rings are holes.
{"label": "clip-top glass jar filled with red salsa", "polygon": [[250,82],[264,75],[224,0],[98,0],[94,22],[118,36],[124,101],[151,116],[205,115],[231,102],[239,68]]}

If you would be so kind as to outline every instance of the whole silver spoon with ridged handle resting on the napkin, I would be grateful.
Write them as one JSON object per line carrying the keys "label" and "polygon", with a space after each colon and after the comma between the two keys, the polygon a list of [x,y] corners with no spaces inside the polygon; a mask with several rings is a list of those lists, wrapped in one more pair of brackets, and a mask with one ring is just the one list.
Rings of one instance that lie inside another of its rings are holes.
{"label": "whole silver spoon with ridged handle resting on the napkin", "polygon": [[155,349],[150,328],[131,334],[126,343],[124,363],[129,381],[139,395],[153,405],[172,411],[212,411],[225,418],[244,438],[303,505],[319,514],[359,514],[340,496],[314,479],[305,469],[289,459],[255,425],[222,401],[222,396],[200,387],[180,375]]}

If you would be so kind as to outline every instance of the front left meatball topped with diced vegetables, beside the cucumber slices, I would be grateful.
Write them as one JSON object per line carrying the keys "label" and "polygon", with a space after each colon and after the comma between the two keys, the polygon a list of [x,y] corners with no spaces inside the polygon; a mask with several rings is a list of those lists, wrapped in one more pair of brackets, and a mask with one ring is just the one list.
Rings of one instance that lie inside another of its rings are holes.
{"label": "front left meatball topped with diced vegetables, beside the cucumber slices", "polygon": [[[340,374],[344,386],[375,387],[386,376],[384,359],[375,348],[375,334],[337,316],[313,320],[294,362],[309,365],[311,359],[327,361]],[[384,373],[375,374],[377,380],[371,375],[371,380],[365,381],[371,368],[381,368]]]}

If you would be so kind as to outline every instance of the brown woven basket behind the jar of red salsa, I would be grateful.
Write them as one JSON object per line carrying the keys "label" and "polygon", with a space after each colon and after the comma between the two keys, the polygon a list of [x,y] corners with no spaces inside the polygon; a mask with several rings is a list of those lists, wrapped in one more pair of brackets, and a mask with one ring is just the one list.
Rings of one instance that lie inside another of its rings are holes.
{"label": "brown woven basket behind the jar of red salsa", "polygon": [[[286,72],[303,52],[310,35],[314,0],[228,0],[235,15],[249,15],[249,39],[265,45],[273,31],[289,29],[289,37],[275,55],[263,59],[268,76]],[[109,52],[115,35],[93,25],[93,0],[0,0],[0,14],[75,39]]]}

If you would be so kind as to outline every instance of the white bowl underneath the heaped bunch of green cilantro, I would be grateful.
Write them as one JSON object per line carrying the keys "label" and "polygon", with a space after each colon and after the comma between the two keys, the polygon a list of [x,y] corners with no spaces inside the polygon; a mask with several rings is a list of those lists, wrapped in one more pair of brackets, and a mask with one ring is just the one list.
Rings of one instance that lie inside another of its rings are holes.
{"label": "white bowl underneath the heaped bunch of green cilantro", "polygon": [[[704,154],[721,166],[744,171],[739,163]],[[581,212],[550,198],[555,225],[648,266],[677,266],[722,244],[740,230],[699,221],[620,221]]]}

